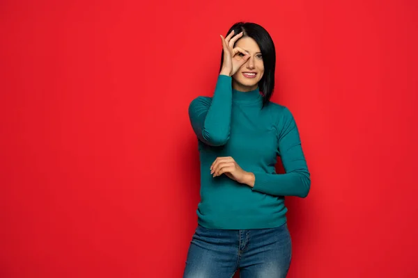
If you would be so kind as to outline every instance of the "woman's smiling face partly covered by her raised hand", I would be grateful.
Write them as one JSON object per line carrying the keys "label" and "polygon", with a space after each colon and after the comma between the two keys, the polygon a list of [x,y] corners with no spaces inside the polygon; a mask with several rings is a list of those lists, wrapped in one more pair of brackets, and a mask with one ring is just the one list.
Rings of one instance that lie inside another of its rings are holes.
{"label": "woman's smiling face partly covered by her raised hand", "polygon": [[[242,92],[255,90],[258,86],[258,81],[261,80],[264,74],[263,57],[261,56],[260,48],[253,38],[240,38],[235,42],[235,47],[240,47],[249,52],[249,59],[240,69],[232,76],[233,88]],[[235,58],[240,58],[244,54],[238,53]]]}

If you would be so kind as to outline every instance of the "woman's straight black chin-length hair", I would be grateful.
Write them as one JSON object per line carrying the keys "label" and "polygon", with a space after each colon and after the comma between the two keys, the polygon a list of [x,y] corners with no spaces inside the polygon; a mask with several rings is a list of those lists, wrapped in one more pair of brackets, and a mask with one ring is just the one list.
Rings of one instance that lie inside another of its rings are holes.
{"label": "woman's straight black chin-length hair", "polygon": [[[256,41],[258,47],[260,47],[261,55],[263,56],[264,74],[258,82],[258,87],[260,88],[260,91],[263,92],[264,106],[270,101],[270,97],[272,97],[274,91],[274,72],[276,70],[276,49],[274,48],[274,42],[268,31],[256,23],[237,22],[233,24],[226,35],[229,35],[232,31],[234,31],[235,35],[242,32],[241,38],[252,38]],[[222,49],[220,70],[222,70],[223,61],[224,50]]]}

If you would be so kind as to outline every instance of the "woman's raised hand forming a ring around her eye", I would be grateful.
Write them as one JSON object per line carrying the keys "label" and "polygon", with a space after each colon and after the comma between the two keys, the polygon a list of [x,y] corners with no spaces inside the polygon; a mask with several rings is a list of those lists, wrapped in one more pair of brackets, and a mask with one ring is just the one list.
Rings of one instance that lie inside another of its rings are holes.
{"label": "woman's raised hand forming a ring around her eye", "polygon": [[222,46],[224,47],[224,61],[222,63],[221,74],[228,76],[233,76],[233,74],[235,74],[249,58],[249,53],[247,51],[240,49],[240,47],[233,47],[235,42],[242,37],[242,32],[232,38],[233,34],[234,31],[231,31],[226,38],[221,35]]}

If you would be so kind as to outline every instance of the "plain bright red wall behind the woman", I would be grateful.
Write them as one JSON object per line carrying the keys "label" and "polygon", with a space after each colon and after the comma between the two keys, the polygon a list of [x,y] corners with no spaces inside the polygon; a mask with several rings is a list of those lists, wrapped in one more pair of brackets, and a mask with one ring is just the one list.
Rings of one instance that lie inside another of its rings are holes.
{"label": "plain bright red wall behind the woman", "polygon": [[311,171],[288,276],[418,277],[415,1],[140,2],[1,1],[0,277],[181,277],[187,107],[238,20],[274,39]]}

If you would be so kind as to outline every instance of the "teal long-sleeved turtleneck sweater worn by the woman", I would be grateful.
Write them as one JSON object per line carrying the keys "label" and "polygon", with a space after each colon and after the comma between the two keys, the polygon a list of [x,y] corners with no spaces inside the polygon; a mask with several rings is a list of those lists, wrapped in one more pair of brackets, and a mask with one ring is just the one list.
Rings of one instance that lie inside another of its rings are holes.
{"label": "teal long-sleeved turtleneck sweater worn by the woman", "polygon": [[[231,76],[219,75],[213,97],[196,97],[189,118],[198,138],[201,202],[198,222],[213,229],[261,229],[286,222],[285,196],[306,197],[310,175],[293,115],[285,106],[263,107],[258,89],[233,90]],[[254,173],[254,187],[222,174],[212,177],[218,156],[231,156]],[[277,174],[280,156],[285,174]]]}

